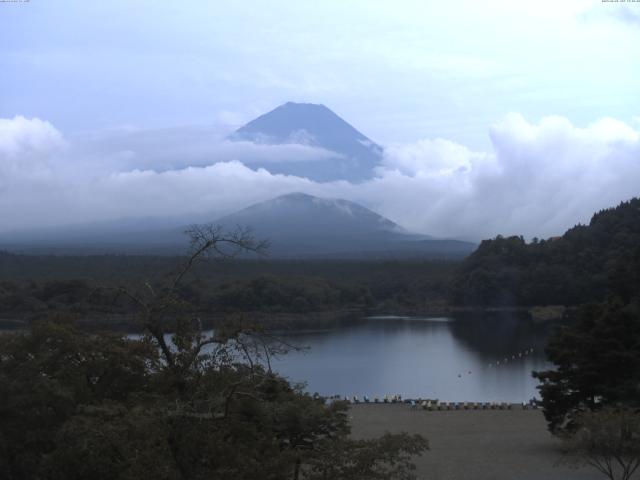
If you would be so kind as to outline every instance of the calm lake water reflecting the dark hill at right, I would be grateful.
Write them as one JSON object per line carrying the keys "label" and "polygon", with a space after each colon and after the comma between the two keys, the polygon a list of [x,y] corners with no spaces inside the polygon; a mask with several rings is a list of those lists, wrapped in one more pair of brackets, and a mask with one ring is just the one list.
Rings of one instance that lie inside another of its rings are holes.
{"label": "calm lake water reflecting the dark hill at right", "polygon": [[508,318],[369,317],[288,334],[287,341],[309,349],[272,365],[322,395],[522,402],[539,398],[531,372],[550,367],[548,335],[548,327]]}

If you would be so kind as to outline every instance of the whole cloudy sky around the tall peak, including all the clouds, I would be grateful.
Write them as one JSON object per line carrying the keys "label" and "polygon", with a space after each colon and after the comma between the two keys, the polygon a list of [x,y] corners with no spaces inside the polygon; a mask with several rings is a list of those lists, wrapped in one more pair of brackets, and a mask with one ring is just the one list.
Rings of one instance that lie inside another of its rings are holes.
{"label": "whole cloudy sky around the tall peak, including all the clouds", "polygon": [[[639,49],[640,3],[600,0],[0,3],[0,229],[304,190],[435,235],[559,234],[640,194]],[[376,179],[256,172],[322,152],[221,140],[290,100],[386,146]]]}

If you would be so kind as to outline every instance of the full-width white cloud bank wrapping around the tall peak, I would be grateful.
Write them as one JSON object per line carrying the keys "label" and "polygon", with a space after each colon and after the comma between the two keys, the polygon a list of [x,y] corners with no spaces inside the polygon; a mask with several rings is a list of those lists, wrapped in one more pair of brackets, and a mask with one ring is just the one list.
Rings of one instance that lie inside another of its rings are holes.
{"label": "full-width white cloud bank wrapping around the tall peak", "polygon": [[374,179],[315,183],[250,168],[253,159],[318,161],[301,145],[227,142],[207,129],[63,138],[40,119],[0,119],[0,230],[136,216],[210,217],[289,193],[365,204],[443,237],[546,237],[640,195],[640,131],[603,118],[491,126],[491,152],[446,139],[390,145]]}

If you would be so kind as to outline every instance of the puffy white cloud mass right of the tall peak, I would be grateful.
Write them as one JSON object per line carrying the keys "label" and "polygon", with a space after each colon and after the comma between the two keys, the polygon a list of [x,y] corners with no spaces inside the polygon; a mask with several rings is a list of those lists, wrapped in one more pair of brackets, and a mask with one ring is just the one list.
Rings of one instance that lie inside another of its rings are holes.
{"label": "puffy white cloud mass right of the tall peak", "polygon": [[579,128],[562,117],[532,124],[510,114],[490,137],[491,154],[443,140],[389,152],[385,164],[405,168],[381,172],[384,196],[369,195],[409,228],[478,238],[559,234],[640,194],[640,133],[623,122]]}

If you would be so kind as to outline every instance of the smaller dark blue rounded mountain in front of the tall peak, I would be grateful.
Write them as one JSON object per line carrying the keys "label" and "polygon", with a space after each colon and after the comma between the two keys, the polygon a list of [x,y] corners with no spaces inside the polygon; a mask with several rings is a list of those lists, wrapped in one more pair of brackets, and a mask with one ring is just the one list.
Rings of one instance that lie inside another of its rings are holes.
{"label": "smaller dark blue rounded mountain in front of the tall peak", "polygon": [[464,256],[475,245],[433,240],[407,232],[354,202],[303,193],[283,195],[217,221],[227,228],[250,226],[281,257]]}

